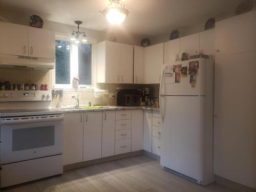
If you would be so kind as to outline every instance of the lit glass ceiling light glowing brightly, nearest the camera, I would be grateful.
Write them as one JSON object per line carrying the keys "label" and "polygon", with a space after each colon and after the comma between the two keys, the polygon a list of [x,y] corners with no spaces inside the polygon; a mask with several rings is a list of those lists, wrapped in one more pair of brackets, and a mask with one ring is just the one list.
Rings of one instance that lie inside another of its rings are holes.
{"label": "lit glass ceiling light glowing brightly, nearest the camera", "polygon": [[129,14],[129,11],[124,8],[124,5],[120,3],[120,0],[109,0],[111,3],[103,10],[102,13],[110,24],[121,24],[125,17]]}

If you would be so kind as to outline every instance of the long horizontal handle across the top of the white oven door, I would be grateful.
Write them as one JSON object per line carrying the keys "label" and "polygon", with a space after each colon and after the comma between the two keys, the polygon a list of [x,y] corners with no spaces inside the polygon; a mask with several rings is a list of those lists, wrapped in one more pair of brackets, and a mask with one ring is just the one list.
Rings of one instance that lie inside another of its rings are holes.
{"label": "long horizontal handle across the top of the white oven door", "polygon": [[56,117],[41,117],[41,118],[28,118],[28,119],[10,119],[10,120],[1,120],[0,124],[20,124],[20,123],[37,123],[37,122],[49,122],[49,121],[59,121],[63,120],[63,115],[59,115]]}

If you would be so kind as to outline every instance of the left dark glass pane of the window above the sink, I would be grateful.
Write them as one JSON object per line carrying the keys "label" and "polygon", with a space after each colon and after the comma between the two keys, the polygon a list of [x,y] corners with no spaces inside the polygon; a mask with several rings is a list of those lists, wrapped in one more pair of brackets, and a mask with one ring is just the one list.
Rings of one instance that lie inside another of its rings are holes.
{"label": "left dark glass pane of the window above the sink", "polygon": [[70,42],[55,40],[55,83],[70,84]]}

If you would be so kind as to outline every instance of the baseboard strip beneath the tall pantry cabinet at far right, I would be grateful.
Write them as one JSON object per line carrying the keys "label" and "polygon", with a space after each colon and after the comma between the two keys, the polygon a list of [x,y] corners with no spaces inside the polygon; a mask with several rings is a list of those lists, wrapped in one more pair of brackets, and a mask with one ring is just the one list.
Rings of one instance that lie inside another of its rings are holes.
{"label": "baseboard strip beneath the tall pantry cabinet at far right", "polygon": [[245,185],[242,185],[240,183],[225,179],[225,178],[220,177],[220,176],[216,176],[216,183],[219,183],[221,185],[225,185],[229,188],[236,189],[236,190],[241,191],[241,192],[256,192],[256,189],[254,189],[254,188],[247,187]]}

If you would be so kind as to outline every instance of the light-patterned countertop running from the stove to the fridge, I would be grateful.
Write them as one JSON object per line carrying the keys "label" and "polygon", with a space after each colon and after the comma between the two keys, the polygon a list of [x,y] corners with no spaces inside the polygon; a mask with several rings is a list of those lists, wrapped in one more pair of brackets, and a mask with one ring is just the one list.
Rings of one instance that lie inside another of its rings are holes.
{"label": "light-patterned countertop running from the stove to the fridge", "polygon": [[75,112],[96,112],[96,111],[118,111],[118,110],[153,110],[159,111],[159,108],[154,106],[102,106],[99,109],[63,109],[63,113],[75,113]]}

